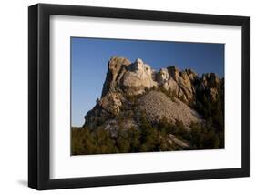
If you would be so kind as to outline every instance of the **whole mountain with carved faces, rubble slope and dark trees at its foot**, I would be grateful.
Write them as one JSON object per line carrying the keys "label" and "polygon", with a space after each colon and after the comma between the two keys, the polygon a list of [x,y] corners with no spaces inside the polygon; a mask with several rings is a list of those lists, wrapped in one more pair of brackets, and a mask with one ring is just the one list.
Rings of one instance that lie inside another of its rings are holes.
{"label": "whole mountain with carved faces, rubble slope and dark trees at its foot", "polygon": [[224,77],[114,56],[72,154],[224,148]]}

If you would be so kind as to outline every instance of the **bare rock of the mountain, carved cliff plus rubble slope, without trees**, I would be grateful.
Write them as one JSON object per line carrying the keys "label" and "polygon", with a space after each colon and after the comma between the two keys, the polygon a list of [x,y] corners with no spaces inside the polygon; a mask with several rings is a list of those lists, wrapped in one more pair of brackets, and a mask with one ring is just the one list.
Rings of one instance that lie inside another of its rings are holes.
{"label": "bare rock of the mountain, carved cliff plus rubble slope, without trees", "polygon": [[126,111],[124,107],[132,106],[129,98],[134,97],[138,102],[137,110],[145,111],[148,120],[155,122],[167,117],[169,122],[180,120],[189,128],[190,122],[201,121],[189,104],[197,100],[201,90],[209,91],[210,98],[215,100],[219,83],[220,78],[212,73],[199,77],[193,70],[180,71],[177,66],[156,71],[142,59],[132,63],[124,57],[113,56],[108,62],[102,95],[87,113],[85,125],[109,122],[109,117],[117,117]]}

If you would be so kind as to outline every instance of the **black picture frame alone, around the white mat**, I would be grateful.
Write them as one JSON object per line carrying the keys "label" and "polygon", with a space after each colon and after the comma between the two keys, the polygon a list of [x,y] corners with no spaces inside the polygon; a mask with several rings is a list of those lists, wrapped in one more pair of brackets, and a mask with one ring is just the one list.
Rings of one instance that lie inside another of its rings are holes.
{"label": "black picture frame alone, around the white mat", "polygon": [[[241,26],[242,125],[241,168],[205,169],[85,178],[49,178],[49,18],[75,15],[148,21]],[[78,5],[37,4],[28,7],[28,186],[69,189],[180,180],[224,179],[250,176],[250,18]]]}

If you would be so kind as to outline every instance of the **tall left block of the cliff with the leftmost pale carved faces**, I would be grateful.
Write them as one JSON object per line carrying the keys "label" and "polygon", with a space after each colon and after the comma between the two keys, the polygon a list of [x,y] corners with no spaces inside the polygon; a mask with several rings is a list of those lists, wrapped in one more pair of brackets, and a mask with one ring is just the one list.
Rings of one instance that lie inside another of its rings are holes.
{"label": "tall left block of the cliff with the leftmost pale carved faces", "polygon": [[108,73],[102,96],[107,93],[123,92],[127,95],[142,94],[146,88],[157,86],[152,78],[152,69],[141,59],[134,63],[123,57],[112,57],[108,62]]}

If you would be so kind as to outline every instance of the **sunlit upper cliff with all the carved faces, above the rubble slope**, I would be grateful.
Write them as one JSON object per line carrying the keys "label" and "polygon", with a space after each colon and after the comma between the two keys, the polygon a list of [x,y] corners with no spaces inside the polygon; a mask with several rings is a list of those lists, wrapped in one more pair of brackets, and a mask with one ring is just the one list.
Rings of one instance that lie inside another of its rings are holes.
{"label": "sunlit upper cliff with all the carved faces, above the rubble slope", "polygon": [[[210,77],[210,81],[212,77]],[[109,92],[123,92],[133,96],[143,94],[145,89],[152,87],[164,87],[171,90],[179,98],[189,102],[195,94],[193,83],[199,79],[198,75],[191,69],[179,71],[176,66],[161,68],[159,72],[151,69],[141,59],[131,63],[123,57],[112,57],[108,62],[108,73],[102,97]],[[209,79],[206,78],[206,81]]]}

